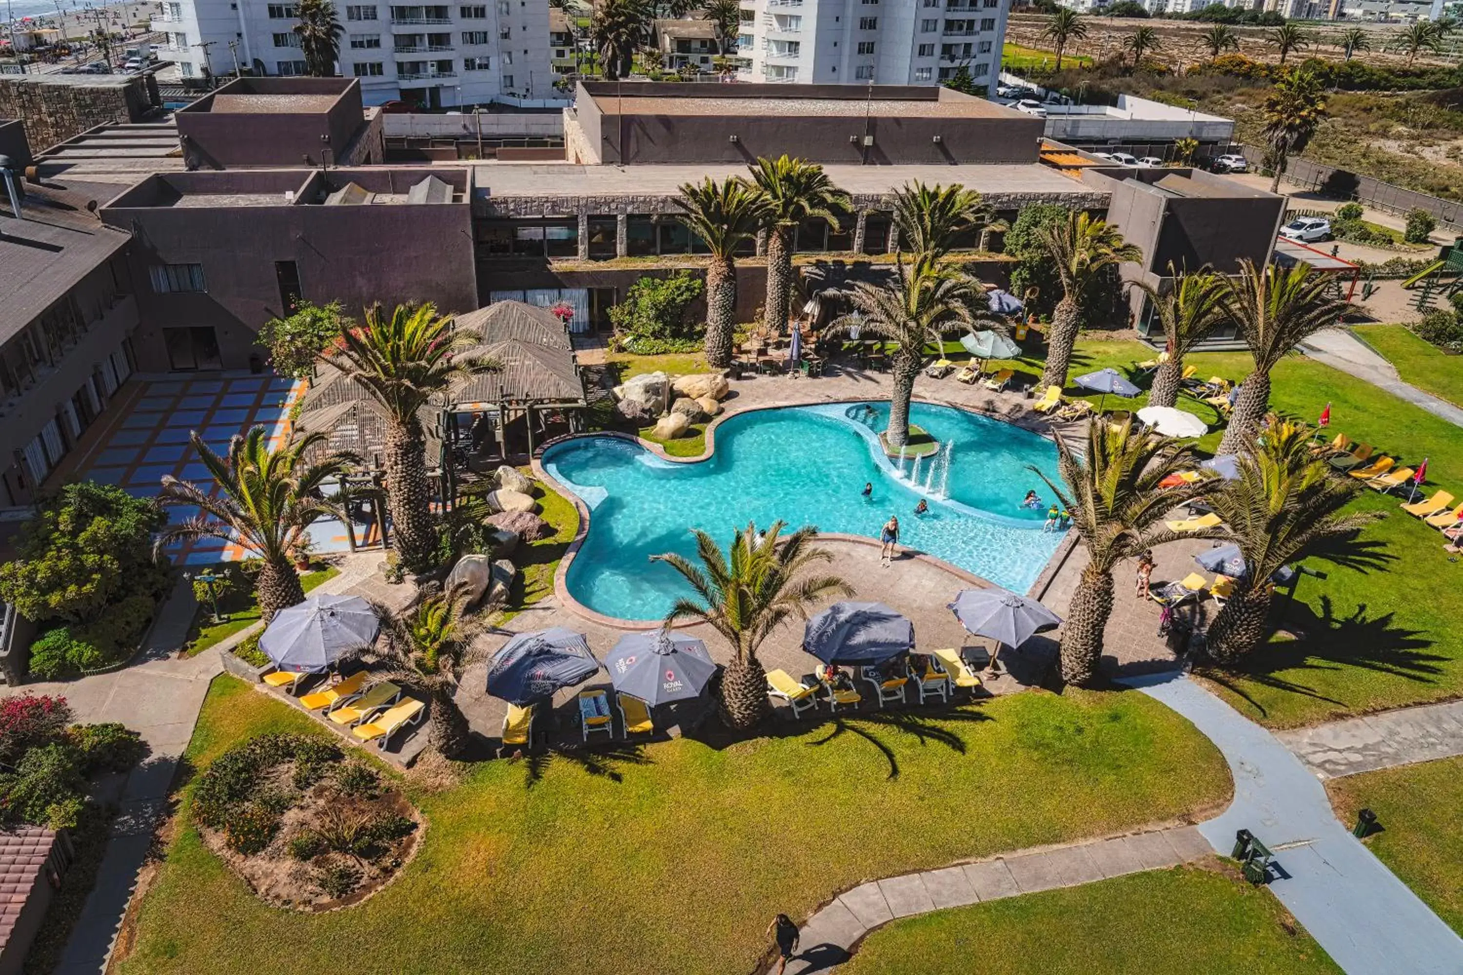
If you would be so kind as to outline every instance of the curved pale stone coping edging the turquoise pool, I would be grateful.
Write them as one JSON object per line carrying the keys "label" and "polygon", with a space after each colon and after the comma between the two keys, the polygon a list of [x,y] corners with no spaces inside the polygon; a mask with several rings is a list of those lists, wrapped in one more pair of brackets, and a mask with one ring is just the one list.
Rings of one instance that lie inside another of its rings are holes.
{"label": "curved pale stone coping edging the turquoise pool", "polygon": [[[746,406],[745,409],[729,409],[723,412],[720,417],[714,418],[710,424],[707,424],[707,431],[705,431],[707,447],[705,450],[701,452],[699,456],[695,458],[673,458],[669,453],[666,453],[666,449],[661,447],[658,443],[619,430],[569,433],[544,441],[538,449],[538,456],[531,458],[531,468],[534,471],[534,475],[538,478],[540,482],[544,484],[547,490],[552,490],[554,494],[566,498],[571,504],[573,504],[575,510],[579,515],[579,529],[575,532],[573,539],[565,550],[563,557],[559,558],[559,566],[554,569],[553,573],[553,591],[554,595],[559,598],[559,604],[569,612],[584,620],[588,620],[590,623],[595,623],[604,627],[612,627],[616,630],[657,630],[661,626],[660,620],[623,620],[620,617],[604,615],[603,612],[598,612],[597,610],[591,610],[590,607],[584,605],[582,602],[573,598],[573,593],[569,592],[569,583],[568,583],[569,566],[578,557],[579,550],[584,547],[584,539],[588,538],[590,535],[590,507],[584,503],[584,500],[578,494],[575,494],[568,487],[560,484],[557,478],[554,478],[544,469],[543,456],[549,452],[550,447],[556,447],[559,444],[569,443],[572,440],[587,440],[590,437],[614,437],[616,440],[625,440],[628,443],[639,444],[644,450],[660,458],[661,460],[669,460],[672,463],[701,463],[704,460],[710,460],[711,456],[715,453],[715,430],[717,427],[721,425],[721,421],[730,417],[740,417],[743,414],[751,414],[761,409],[786,409],[789,406],[831,406],[837,403],[863,403],[863,402],[869,402],[868,396],[847,396],[847,398],[838,396],[832,399],[818,399],[818,401],[793,399],[793,401],[778,401],[771,403],[758,403],[755,406]],[[960,409],[963,412],[974,414],[977,417],[986,417],[988,420],[996,420],[999,422],[1011,422],[1009,420],[1005,420],[1002,417],[988,414],[979,409],[970,409],[961,403],[954,403],[948,401],[930,401],[922,396],[916,396],[911,399],[911,402],[922,402],[932,406],[949,406],[951,409]],[[1052,433],[1050,424],[1045,424],[1046,430],[1033,430],[1031,427],[1026,427],[1023,424],[1015,424],[1015,422],[1011,422],[1011,425],[1020,427],[1021,430],[1034,433],[1048,440],[1055,441],[1056,439],[1055,434]],[[881,542],[878,539],[865,538],[863,535],[846,535],[841,532],[827,532],[827,534],[821,532],[818,535],[818,539],[831,542],[849,542],[856,545],[870,545],[875,548],[881,547]],[[1062,564],[1065,564],[1067,558],[1075,548],[1075,542],[1077,542],[1077,534],[1068,532],[1064,536],[1061,545],[1058,545],[1056,551],[1052,553],[1052,557],[1048,558],[1046,566],[1043,566],[1036,580],[1027,589],[1027,595],[1034,593],[1037,589],[1042,589],[1045,592],[1045,589],[1050,586],[1052,580],[1056,577],[1056,572],[1061,569]],[[977,576],[973,572],[967,572],[960,566],[955,566],[952,563],[945,561],[944,558],[938,558],[935,555],[923,553],[917,548],[904,547],[904,554],[907,557],[926,561],[930,566],[941,569],[945,573],[954,576],[955,579],[960,579],[961,582],[966,582],[974,588],[979,589],[999,588],[989,579]],[[695,621],[688,620],[686,623],[677,623],[674,629],[683,629],[691,626],[696,624]]]}

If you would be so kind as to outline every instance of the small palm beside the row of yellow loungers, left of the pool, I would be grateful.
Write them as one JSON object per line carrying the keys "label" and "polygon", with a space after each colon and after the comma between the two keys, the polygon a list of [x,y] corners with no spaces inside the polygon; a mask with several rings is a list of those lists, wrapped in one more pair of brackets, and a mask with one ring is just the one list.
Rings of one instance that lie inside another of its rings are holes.
{"label": "small palm beside the row of yellow loungers, left of the pool", "polygon": [[484,617],[465,615],[468,595],[427,588],[399,612],[373,604],[380,618],[376,653],[391,668],[385,677],[423,690],[432,702],[429,744],[445,759],[461,759],[471,737],[456,703],[462,671],[486,656],[474,646]]}

